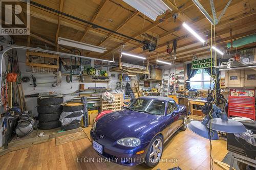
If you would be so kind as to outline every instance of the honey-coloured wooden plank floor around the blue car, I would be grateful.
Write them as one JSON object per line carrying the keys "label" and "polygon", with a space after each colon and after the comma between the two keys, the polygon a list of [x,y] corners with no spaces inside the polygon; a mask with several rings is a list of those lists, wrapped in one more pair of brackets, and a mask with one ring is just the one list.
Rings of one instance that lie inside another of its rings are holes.
{"label": "honey-coloured wooden plank floor around the blue car", "polygon": [[[89,134],[90,128],[83,129]],[[226,141],[212,141],[212,157],[222,160],[227,154]],[[55,139],[10,152],[0,157],[0,169],[168,169],[179,166],[186,169],[209,169],[209,141],[189,131],[179,131],[164,145],[162,159],[178,159],[178,163],[160,162],[154,168],[144,164],[127,167],[115,163],[77,163],[77,158],[99,157],[92,148],[89,138],[57,145]],[[88,160],[88,159],[87,159]],[[214,164],[214,169],[222,169]]]}

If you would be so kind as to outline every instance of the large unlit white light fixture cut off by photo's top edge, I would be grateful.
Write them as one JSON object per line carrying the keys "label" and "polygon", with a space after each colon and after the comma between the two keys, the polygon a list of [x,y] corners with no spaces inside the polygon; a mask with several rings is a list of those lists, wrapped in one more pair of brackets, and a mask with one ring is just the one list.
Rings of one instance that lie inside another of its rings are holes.
{"label": "large unlit white light fixture cut off by photo's top edge", "polygon": [[123,0],[123,2],[154,21],[156,21],[158,15],[165,13],[166,10],[172,10],[161,0]]}

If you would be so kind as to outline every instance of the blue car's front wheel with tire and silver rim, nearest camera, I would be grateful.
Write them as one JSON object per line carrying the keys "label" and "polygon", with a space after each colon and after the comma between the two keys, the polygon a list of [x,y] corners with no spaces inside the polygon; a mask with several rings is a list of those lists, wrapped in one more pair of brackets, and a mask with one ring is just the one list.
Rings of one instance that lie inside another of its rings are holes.
{"label": "blue car's front wheel with tire and silver rim, nearest camera", "polygon": [[163,139],[160,136],[156,136],[150,143],[146,154],[145,164],[149,167],[156,166],[163,153]]}

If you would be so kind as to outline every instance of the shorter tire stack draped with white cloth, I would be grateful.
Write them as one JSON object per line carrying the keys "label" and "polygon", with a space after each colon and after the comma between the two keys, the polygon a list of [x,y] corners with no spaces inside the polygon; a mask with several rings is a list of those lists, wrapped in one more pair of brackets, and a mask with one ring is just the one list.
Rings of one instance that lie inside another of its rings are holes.
{"label": "shorter tire stack draped with white cloth", "polygon": [[67,131],[67,130],[72,130],[72,129],[79,128],[81,126],[81,116],[83,115],[82,105],[79,105],[79,106],[63,106],[62,114],[63,115],[65,114],[66,116],[61,115],[60,118],[66,119],[66,120],[67,119],[71,120],[71,119],[74,119],[75,117],[80,117],[80,118],[72,120],[67,125],[61,125],[60,126],[61,130]]}

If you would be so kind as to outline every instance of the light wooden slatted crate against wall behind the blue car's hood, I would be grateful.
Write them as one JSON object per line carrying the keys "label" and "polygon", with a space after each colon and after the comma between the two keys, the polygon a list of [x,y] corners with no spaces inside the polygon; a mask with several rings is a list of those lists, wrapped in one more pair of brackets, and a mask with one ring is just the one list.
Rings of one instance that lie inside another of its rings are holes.
{"label": "light wooden slatted crate against wall behind the blue car's hood", "polygon": [[113,94],[115,96],[115,101],[113,103],[109,103],[107,101],[103,101],[100,99],[100,111],[104,110],[121,110],[123,104],[123,93]]}

